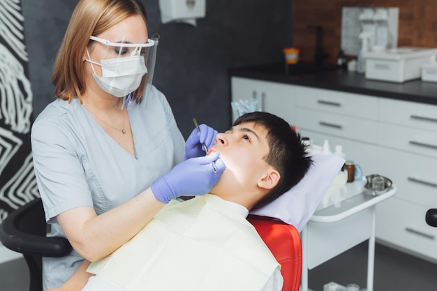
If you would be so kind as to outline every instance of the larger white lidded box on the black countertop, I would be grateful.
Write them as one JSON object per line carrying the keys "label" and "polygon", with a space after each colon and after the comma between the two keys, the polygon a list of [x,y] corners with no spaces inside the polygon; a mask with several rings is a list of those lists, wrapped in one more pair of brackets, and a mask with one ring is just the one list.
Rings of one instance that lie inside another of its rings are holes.
{"label": "larger white lidded box on the black countertop", "polygon": [[437,48],[398,47],[380,52],[366,52],[366,79],[406,82],[420,79],[422,65],[436,61]]}

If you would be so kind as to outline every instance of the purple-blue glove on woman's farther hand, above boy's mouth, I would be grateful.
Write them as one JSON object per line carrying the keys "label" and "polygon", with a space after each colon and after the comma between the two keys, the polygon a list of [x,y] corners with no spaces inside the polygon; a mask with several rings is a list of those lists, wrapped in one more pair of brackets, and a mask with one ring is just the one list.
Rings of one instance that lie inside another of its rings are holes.
{"label": "purple-blue glove on woman's farther hand, above boy's mouth", "polygon": [[205,142],[207,148],[211,147],[216,142],[217,130],[205,124],[200,124],[200,133],[196,128],[193,129],[191,135],[185,143],[185,160],[188,158],[197,158],[205,156],[205,151],[202,149],[202,143]]}

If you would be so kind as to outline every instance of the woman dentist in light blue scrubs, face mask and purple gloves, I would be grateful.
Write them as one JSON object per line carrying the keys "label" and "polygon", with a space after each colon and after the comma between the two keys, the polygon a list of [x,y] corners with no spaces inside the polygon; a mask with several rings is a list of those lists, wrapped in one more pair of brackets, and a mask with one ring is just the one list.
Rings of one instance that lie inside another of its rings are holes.
{"label": "woman dentist in light blue scrubs, face mask and purple gloves", "polygon": [[165,96],[151,85],[157,44],[139,0],[77,3],[54,64],[57,99],[31,133],[50,236],[74,249],[44,258],[44,290],[64,283],[84,258],[115,251],[170,200],[207,193],[225,169],[217,154],[203,156],[201,144],[212,145],[216,130],[201,125],[184,145]]}

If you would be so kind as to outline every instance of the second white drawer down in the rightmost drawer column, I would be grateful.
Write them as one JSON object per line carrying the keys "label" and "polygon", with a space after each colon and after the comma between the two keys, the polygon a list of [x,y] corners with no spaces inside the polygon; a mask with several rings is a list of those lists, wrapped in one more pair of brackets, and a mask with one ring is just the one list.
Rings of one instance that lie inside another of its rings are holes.
{"label": "second white drawer down in the rightmost drawer column", "polygon": [[380,123],[379,143],[414,154],[437,157],[437,133],[430,130]]}

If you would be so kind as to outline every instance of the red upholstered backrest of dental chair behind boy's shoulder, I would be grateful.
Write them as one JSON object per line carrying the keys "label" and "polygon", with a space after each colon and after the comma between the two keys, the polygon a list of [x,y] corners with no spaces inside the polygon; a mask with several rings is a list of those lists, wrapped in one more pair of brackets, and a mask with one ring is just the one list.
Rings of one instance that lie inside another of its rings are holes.
{"label": "red upholstered backrest of dental chair behind boy's shoulder", "polygon": [[281,264],[282,290],[298,291],[302,275],[302,245],[296,227],[262,216],[249,215],[247,220]]}

